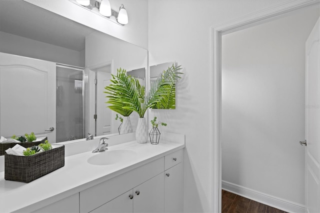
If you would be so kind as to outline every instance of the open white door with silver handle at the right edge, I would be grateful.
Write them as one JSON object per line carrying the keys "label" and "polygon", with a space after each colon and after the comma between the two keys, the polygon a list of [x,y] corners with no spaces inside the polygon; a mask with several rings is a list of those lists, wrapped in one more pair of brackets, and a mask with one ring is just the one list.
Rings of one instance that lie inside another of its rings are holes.
{"label": "open white door with silver handle at the right edge", "polygon": [[320,212],[320,44],[319,19],[305,43],[305,206]]}

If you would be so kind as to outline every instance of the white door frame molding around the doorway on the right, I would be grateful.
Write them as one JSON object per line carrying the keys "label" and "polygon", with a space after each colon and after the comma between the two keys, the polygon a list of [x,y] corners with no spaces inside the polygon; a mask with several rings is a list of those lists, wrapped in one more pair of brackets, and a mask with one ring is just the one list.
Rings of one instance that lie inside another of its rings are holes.
{"label": "white door frame molding around the doorway on the right", "polygon": [[320,0],[286,0],[272,7],[254,12],[229,22],[211,27],[211,56],[212,72],[210,72],[211,91],[211,115],[210,126],[213,131],[210,135],[212,141],[212,212],[221,212],[221,36],[238,31],[250,26],[258,25],[271,19],[278,18],[287,12],[294,11],[315,3]]}

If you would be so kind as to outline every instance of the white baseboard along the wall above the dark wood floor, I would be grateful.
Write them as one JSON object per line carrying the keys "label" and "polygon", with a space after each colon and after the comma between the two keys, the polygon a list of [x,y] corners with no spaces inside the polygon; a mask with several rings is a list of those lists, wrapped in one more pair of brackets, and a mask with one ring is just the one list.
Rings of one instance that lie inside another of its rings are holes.
{"label": "white baseboard along the wall above the dark wood floor", "polygon": [[302,204],[291,202],[286,199],[265,194],[224,180],[222,180],[222,189],[286,212],[305,212],[305,206]]}

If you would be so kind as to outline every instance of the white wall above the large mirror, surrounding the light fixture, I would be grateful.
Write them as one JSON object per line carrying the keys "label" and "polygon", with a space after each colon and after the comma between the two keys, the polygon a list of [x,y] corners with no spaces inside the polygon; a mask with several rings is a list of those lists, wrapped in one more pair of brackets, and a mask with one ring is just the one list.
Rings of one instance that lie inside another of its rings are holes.
{"label": "white wall above the large mirror, surrounding the light fixture", "polygon": [[115,11],[119,11],[121,4],[124,5],[128,14],[128,23],[123,26],[113,23],[69,0],[25,1],[147,49],[147,0],[110,0],[111,8]]}

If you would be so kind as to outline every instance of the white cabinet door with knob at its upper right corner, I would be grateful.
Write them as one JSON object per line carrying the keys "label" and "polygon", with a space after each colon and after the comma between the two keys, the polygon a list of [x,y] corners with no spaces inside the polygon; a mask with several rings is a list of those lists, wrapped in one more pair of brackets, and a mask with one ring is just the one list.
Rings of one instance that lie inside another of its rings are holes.
{"label": "white cabinet door with knob at its upper right corner", "polygon": [[90,212],[132,212],[133,190],[129,190]]}

